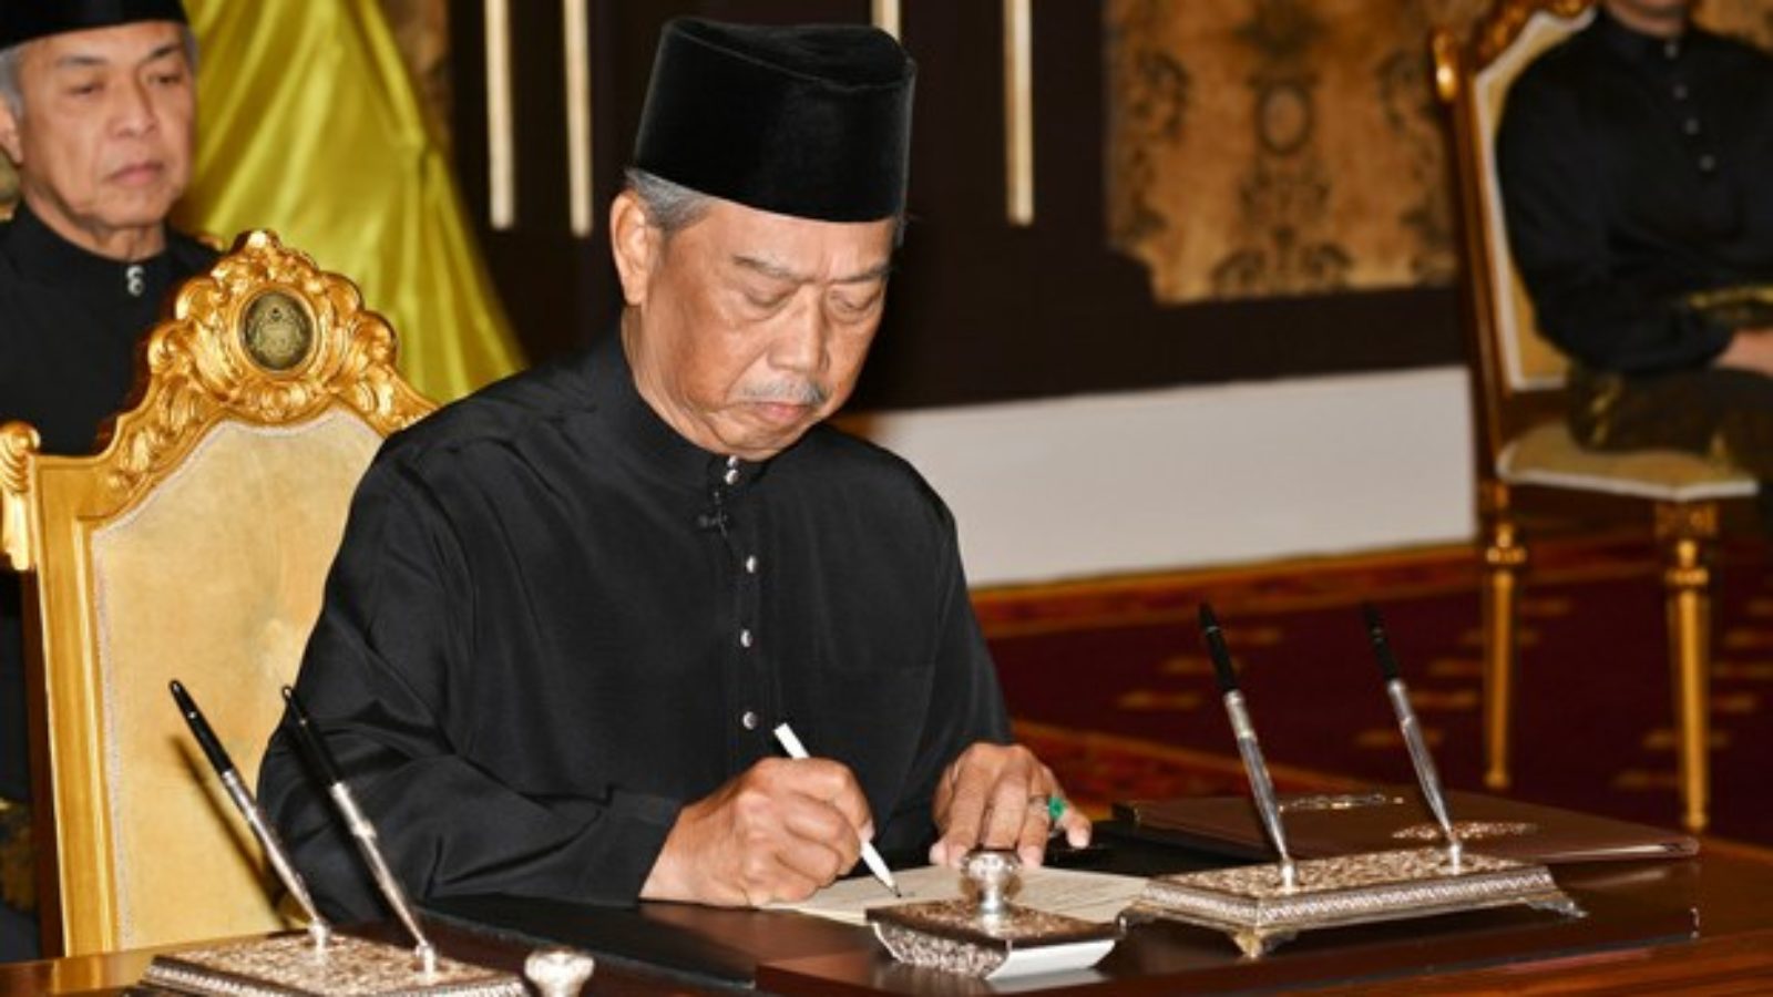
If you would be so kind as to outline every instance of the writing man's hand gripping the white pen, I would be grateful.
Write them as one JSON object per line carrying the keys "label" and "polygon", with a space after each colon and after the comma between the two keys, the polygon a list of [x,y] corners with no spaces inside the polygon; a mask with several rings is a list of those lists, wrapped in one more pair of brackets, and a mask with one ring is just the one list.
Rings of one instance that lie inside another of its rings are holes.
{"label": "writing man's hand gripping the white pen", "polygon": [[677,814],[640,896],[762,907],[812,896],[874,836],[849,768],[769,758]]}

